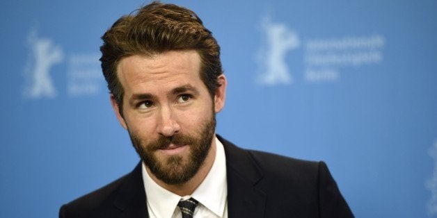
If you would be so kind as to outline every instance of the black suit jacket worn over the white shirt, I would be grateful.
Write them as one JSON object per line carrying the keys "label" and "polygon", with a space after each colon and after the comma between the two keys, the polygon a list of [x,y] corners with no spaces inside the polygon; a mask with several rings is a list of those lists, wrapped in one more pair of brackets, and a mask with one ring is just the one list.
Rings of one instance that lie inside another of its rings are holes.
{"label": "black suit jacket worn over the white shirt", "polygon": [[[353,217],[324,162],[240,149],[220,136],[228,176],[228,217]],[[141,164],[61,207],[59,217],[148,217]]]}

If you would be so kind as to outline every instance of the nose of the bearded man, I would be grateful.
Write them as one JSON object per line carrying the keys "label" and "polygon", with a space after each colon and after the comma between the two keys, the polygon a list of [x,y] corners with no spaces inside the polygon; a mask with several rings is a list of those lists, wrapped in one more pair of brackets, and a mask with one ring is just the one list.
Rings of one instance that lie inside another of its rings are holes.
{"label": "nose of the bearded man", "polygon": [[170,107],[161,107],[159,117],[158,133],[170,137],[180,131],[180,125],[177,122],[177,116]]}

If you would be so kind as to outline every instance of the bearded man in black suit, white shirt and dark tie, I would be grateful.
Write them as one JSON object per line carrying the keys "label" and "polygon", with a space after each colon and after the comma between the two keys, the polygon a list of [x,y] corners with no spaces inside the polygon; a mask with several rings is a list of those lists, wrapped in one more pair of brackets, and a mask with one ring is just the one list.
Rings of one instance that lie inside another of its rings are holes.
{"label": "bearded man in black suit, white shirt and dark tie", "polygon": [[194,12],[153,2],[102,40],[111,104],[142,161],[60,217],[353,217],[324,162],[247,151],[216,135],[226,78]]}

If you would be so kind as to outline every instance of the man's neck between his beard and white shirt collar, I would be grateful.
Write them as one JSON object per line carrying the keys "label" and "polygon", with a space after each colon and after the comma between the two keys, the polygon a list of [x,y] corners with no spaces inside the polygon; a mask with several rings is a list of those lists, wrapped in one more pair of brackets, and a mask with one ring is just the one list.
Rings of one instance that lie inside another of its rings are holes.
{"label": "man's neck between his beard and white shirt collar", "polygon": [[164,187],[166,190],[173,192],[179,196],[186,196],[186,195],[193,194],[193,192],[200,185],[200,183],[202,183],[205,177],[207,177],[207,174],[209,173],[209,170],[214,164],[215,159],[216,159],[216,137],[214,135],[214,137],[212,138],[211,147],[209,148],[205,161],[203,161],[198,172],[193,176],[193,178],[191,178],[186,183],[169,185],[156,178],[154,174],[152,174],[152,172],[150,171],[149,167],[145,167],[145,169],[147,173],[150,175],[150,178],[152,178],[152,180],[155,183],[157,183],[159,186]]}

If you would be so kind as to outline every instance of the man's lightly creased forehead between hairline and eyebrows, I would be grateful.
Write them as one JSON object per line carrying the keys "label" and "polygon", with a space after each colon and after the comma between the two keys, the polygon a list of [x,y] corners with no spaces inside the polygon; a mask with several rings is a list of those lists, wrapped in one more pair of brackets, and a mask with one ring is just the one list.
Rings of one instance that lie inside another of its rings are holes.
{"label": "man's lightly creased forehead between hairline and eyebrows", "polygon": [[125,94],[202,83],[200,56],[193,50],[168,51],[152,57],[129,56],[120,61],[117,73]]}

